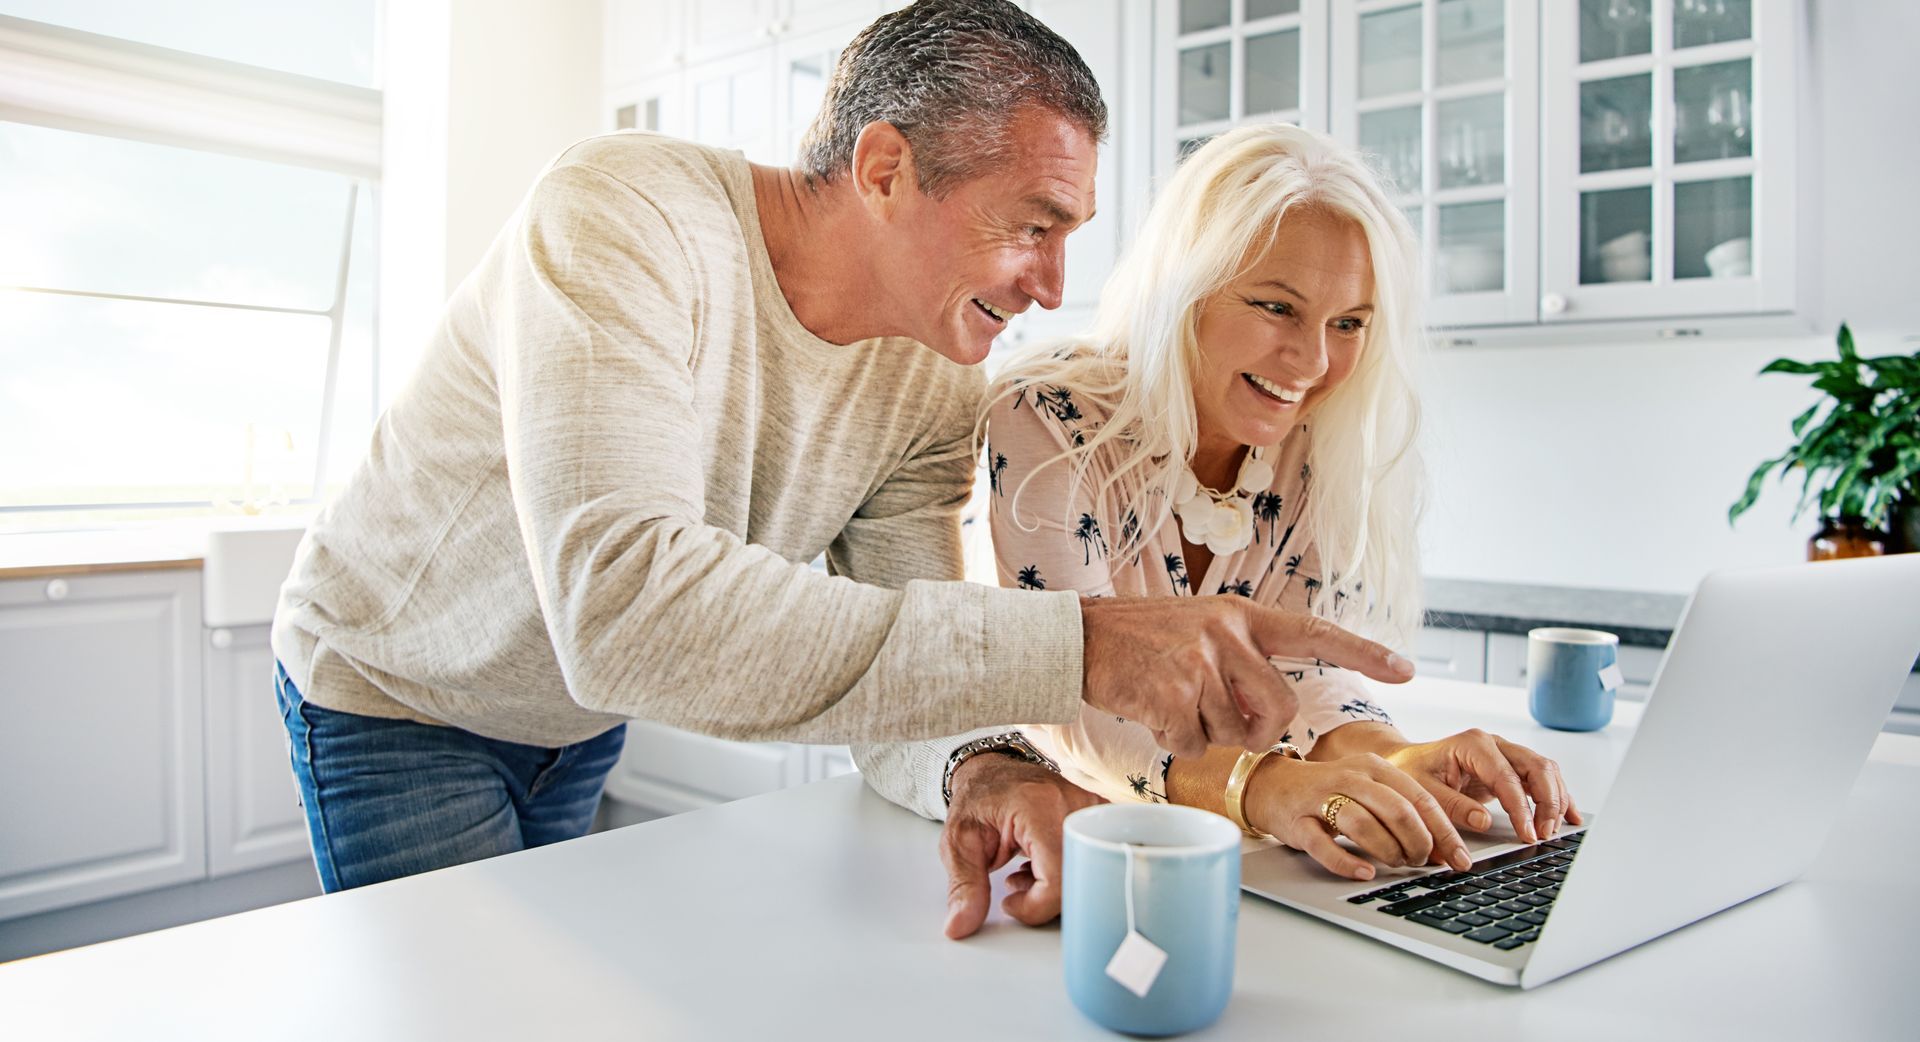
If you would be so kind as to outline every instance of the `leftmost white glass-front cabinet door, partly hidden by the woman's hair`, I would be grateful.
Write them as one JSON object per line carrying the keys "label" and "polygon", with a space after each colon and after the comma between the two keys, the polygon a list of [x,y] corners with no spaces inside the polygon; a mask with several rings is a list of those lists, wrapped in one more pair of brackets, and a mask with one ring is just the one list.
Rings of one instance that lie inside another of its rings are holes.
{"label": "leftmost white glass-front cabinet door, partly hidden by the woman's hair", "polygon": [[1329,0],[1154,0],[1154,177],[1252,121],[1327,129]]}

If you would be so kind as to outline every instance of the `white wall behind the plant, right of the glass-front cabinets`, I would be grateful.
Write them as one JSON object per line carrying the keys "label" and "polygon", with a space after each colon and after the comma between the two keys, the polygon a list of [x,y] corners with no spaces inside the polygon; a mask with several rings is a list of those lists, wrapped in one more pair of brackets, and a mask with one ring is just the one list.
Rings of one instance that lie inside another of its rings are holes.
{"label": "white wall behind the plant, right of the glass-front cabinets", "polygon": [[1427,395],[1430,576],[1686,593],[1718,566],[1805,557],[1814,516],[1788,524],[1797,480],[1768,485],[1730,530],[1726,507],[1789,441],[1814,393],[1755,374],[1780,355],[1920,349],[1920,6],[1814,0],[1801,132],[1801,211],[1818,334],[1736,342],[1440,349]]}

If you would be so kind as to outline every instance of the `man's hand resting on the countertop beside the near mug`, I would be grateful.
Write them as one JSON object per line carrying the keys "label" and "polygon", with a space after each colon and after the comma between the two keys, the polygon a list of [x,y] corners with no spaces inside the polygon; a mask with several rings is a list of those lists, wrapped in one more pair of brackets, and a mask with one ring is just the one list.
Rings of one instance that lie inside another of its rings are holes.
{"label": "man's hand resting on the countertop beside the near mug", "polygon": [[952,777],[954,800],[941,831],[947,865],[947,936],[972,936],[987,921],[993,873],[1014,854],[1027,858],[1006,877],[1000,908],[1029,927],[1060,915],[1060,839],[1068,814],[1104,804],[1058,773],[1014,756],[968,756]]}

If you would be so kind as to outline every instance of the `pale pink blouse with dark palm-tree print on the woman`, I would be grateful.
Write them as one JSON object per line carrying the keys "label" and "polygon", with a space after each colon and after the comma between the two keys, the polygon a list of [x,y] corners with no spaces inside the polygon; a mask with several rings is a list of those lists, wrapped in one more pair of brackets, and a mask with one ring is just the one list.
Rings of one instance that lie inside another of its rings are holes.
{"label": "pale pink blouse with dark palm-tree print on the woman", "polygon": [[[1336,576],[1321,574],[1313,532],[1306,528],[1308,424],[1267,453],[1275,476],[1254,499],[1254,541],[1242,551],[1215,555],[1204,576],[1192,576],[1183,558],[1179,520],[1160,493],[1140,495],[1116,485],[1096,510],[1091,495],[1104,480],[1096,459],[1081,478],[1083,491],[1069,503],[1077,461],[1046,461],[1085,439],[1102,418],[1091,401],[1064,386],[1033,384],[995,403],[985,455],[1000,585],[1073,589],[1087,597],[1233,593],[1288,612],[1354,622],[1359,612],[1352,601],[1363,591],[1329,591]],[[1140,532],[1148,533],[1144,543],[1123,549]],[[1386,710],[1373,704],[1361,675],[1311,658],[1271,662],[1300,699],[1286,741],[1302,752],[1319,735],[1354,720],[1392,723]],[[1140,723],[1081,706],[1075,723],[1025,725],[1021,733],[1083,789],[1108,798],[1131,794],[1165,802],[1173,756]]]}

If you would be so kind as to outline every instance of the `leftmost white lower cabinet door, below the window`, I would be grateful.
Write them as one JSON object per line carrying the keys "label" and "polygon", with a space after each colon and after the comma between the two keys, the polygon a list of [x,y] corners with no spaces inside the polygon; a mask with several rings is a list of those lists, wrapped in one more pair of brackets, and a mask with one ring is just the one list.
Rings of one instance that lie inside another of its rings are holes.
{"label": "leftmost white lower cabinet door, below the window", "polygon": [[200,879],[200,574],[4,581],[0,662],[0,919]]}

